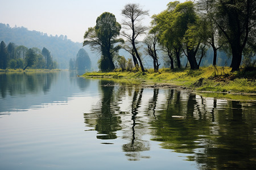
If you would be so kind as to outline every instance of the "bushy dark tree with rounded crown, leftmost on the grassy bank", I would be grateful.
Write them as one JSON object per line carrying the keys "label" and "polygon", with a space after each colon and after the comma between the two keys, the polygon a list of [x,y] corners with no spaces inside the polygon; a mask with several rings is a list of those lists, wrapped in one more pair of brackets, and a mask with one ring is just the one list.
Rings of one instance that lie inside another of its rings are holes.
{"label": "bushy dark tree with rounded crown, leftmost on the grassy bank", "polygon": [[92,50],[101,52],[101,59],[98,62],[102,71],[111,71],[115,69],[113,58],[123,42],[117,39],[121,25],[115,19],[115,15],[110,12],[104,12],[98,16],[96,26],[88,28],[84,35],[84,46],[90,45]]}

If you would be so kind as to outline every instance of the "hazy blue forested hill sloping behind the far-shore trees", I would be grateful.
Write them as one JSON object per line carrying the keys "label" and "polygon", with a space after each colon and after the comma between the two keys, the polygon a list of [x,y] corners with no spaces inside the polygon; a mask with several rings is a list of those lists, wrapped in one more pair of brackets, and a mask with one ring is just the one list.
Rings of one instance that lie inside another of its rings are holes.
{"label": "hazy blue forested hill sloping behind the far-shore trees", "polygon": [[[75,58],[76,54],[82,48],[82,43],[73,42],[67,39],[67,36],[48,36],[47,33],[39,31],[29,31],[24,27],[13,27],[9,24],[0,23],[0,41],[4,41],[6,45],[14,42],[15,45],[24,45],[27,48],[37,47],[39,49],[47,48],[53,59],[57,61],[60,69],[68,69],[69,59]],[[89,54],[92,61],[92,69],[97,69],[97,54],[84,48]]]}

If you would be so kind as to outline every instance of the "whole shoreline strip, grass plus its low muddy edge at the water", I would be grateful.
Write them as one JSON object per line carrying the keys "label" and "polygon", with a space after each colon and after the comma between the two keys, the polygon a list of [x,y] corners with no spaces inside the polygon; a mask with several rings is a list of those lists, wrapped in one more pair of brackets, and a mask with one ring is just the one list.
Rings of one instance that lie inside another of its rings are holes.
{"label": "whole shoreline strip, grass plus its low muddy edge at the water", "polygon": [[[141,71],[91,72],[90,79],[111,80],[145,88],[175,88],[232,100],[256,100],[255,71],[231,73],[229,67],[203,67],[200,70],[159,69],[158,73]],[[111,86],[111,84],[109,84]]]}

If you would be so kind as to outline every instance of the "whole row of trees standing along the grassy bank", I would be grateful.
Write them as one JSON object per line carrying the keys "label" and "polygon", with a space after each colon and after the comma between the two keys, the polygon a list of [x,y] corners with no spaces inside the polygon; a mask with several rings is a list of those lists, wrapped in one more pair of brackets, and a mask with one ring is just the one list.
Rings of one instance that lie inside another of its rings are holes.
{"label": "whole row of trees standing along the grassy bank", "polygon": [[[143,25],[148,10],[137,3],[125,5],[121,15],[122,23],[118,23],[115,15],[104,12],[85,32],[83,45],[101,53],[102,71],[125,70],[131,60],[145,71],[148,58],[155,71],[161,64],[192,70],[230,66],[232,71],[255,65],[255,1],[174,1],[151,16],[151,25]],[[119,55],[119,50],[128,52],[130,60]]]}

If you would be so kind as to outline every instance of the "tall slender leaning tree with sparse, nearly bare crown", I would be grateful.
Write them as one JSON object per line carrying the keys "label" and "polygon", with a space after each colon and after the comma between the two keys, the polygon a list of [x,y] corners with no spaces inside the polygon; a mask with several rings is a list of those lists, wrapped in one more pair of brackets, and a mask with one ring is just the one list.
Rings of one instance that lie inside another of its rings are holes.
{"label": "tall slender leaning tree with sparse, nearly bare crown", "polygon": [[144,34],[147,30],[147,27],[142,26],[141,23],[144,19],[144,16],[148,15],[148,11],[142,10],[139,4],[129,3],[125,5],[125,8],[123,8],[121,14],[125,17],[122,22],[122,24],[124,25],[124,29],[126,29],[127,31],[131,31],[131,33],[127,31],[122,31],[121,34],[131,42],[134,53],[139,60],[139,64],[141,65],[141,70],[144,72],[145,70],[142,64],[141,57],[139,56],[137,47],[135,45],[135,40],[139,35]]}

